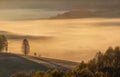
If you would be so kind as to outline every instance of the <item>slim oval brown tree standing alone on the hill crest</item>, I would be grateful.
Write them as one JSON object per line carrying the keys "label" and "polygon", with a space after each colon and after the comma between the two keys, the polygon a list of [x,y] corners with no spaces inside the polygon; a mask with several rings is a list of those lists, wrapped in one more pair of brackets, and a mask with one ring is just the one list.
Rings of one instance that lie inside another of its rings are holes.
{"label": "slim oval brown tree standing alone on the hill crest", "polygon": [[29,54],[30,52],[30,45],[27,39],[23,40],[22,43],[22,52],[24,53],[24,55],[26,56],[27,54]]}

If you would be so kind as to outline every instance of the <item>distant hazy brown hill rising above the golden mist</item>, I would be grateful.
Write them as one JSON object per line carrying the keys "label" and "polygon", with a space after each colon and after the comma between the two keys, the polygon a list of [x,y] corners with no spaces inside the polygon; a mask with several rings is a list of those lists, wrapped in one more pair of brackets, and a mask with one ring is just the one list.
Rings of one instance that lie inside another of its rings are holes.
{"label": "distant hazy brown hill rising above the golden mist", "polygon": [[68,18],[120,18],[119,10],[71,10],[63,14],[59,14],[50,19],[68,19]]}

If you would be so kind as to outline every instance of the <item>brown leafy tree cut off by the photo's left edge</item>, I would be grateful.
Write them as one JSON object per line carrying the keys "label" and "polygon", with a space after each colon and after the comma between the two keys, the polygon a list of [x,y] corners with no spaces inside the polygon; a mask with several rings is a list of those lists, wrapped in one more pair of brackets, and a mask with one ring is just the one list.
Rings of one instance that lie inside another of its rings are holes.
{"label": "brown leafy tree cut off by the photo's left edge", "polygon": [[8,41],[5,35],[0,35],[0,52],[8,51]]}

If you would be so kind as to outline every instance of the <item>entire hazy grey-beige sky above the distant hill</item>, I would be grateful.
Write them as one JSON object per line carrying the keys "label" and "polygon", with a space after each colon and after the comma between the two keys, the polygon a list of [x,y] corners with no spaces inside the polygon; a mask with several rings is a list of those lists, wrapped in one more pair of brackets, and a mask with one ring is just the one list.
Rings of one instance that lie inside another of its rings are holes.
{"label": "entire hazy grey-beige sky above the distant hill", "polygon": [[40,19],[71,9],[119,9],[119,0],[0,0],[0,20]]}

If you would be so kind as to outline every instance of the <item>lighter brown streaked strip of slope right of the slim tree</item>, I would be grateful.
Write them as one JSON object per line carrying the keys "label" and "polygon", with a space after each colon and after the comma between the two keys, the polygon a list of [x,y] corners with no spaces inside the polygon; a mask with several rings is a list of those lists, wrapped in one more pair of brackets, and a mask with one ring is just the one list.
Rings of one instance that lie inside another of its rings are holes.
{"label": "lighter brown streaked strip of slope right of the slim tree", "polygon": [[38,58],[38,57],[33,57],[33,56],[27,56],[26,58],[29,60],[35,61],[37,63],[45,63],[52,68],[59,68],[59,69],[63,68],[63,70],[64,70],[64,68],[71,70],[71,69],[75,68],[77,65],[79,65],[79,63],[77,63],[77,62],[45,58],[45,57]]}

